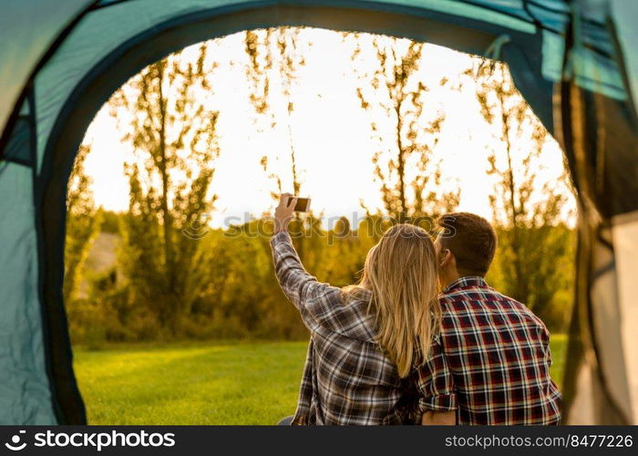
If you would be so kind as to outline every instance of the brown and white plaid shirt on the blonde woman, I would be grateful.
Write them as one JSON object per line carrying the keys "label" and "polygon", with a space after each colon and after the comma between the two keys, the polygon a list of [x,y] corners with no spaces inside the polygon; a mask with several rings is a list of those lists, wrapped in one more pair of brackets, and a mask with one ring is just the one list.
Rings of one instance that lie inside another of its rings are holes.
{"label": "brown and white plaid shirt on the blonde woman", "polygon": [[[368,301],[345,304],[341,289],[306,273],[288,233],[275,234],[271,246],[283,293],[311,331],[293,424],[402,424],[412,407],[404,394],[408,380],[376,344]],[[420,400],[440,406],[445,399],[432,387],[419,384]]]}

